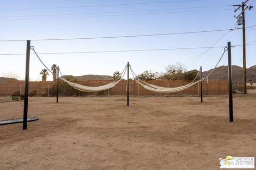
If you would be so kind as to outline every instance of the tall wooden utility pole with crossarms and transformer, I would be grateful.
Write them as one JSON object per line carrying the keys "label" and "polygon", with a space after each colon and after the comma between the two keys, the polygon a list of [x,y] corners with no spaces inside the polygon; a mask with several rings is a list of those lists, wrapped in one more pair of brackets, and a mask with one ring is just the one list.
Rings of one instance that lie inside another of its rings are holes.
{"label": "tall wooden utility pole with crossarms and transformer", "polygon": [[[247,81],[246,81],[246,41],[245,41],[245,10],[249,7],[249,10],[251,10],[251,8],[253,8],[253,6],[246,6],[246,2],[248,2],[249,0],[246,0],[245,2],[242,2],[242,5],[233,5],[233,6],[238,6],[234,12],[236,12],[237,10],[239,10],[239,8],[242,7],[242,12],[238,15],[235,16],[237,19],[237,25],[243,25],[243,82],[244,82],[244,94],[246,94],[247,91]],[[246,7],[245,7],[246,6]],[[242,14],[242,16],[241,16]]]}

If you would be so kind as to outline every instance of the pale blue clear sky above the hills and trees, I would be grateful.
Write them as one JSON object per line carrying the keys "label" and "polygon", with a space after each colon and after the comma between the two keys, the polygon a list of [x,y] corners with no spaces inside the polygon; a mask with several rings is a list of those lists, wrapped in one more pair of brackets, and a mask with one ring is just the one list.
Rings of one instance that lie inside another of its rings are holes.
{"label": "pale blue clear sky above the hills and trees", "polygon": [[[206,31],[241,28],[236,24],[231,5],[242,1],[156,1],[156,0],[66,0],[66,1],[1,1],[0,7],[0,77],[15,73],[25,79],[26,41],[29,39],[63,39],[151,35],[162,33]],[[249,0],[247,5],[255,8],[245,13],[246,27],[256,25],[256,1]],[[177,9],[178,8],[178,9]],[[246,30],[246,66],[256,65],[256,30]],[[225,36],[224,36],[225,35]],[[224,36],[224,37],[223,37]],[[222,39],[215,44],[220,38]],[[65,52],[102,52],[137,49],[166,49],[211,47],[242,44],[242,29],[204,33],[189,33],[164,36],[50,40],[31,41],[37,53]],[[81,53],[81,54],[41,54],[42,61],[51,67],[57,64],[62,74],[113,75],[122,71],[130,62],[134,72],[140,74],[146,70],[164,72],[169,64],[181,63],[187,70],[212,69],[218,62],[223,47],[211,48],[196,60],[196,56],[207,48],[155,50],[140,52]],[[3,55],[17,54],[23,55]],[[231,50],[232,64],[243,65],[242,46]],[[194,58],[194,60],[193,60]],[[195,61],[196,60],[196,61]],[[227,54],[220,65],[227,65]],[[32,81],[39,81],[39,72],[44,66],[33,52],[30,55],[30,73]],[[52,80],[52,76],[47,77]]]}

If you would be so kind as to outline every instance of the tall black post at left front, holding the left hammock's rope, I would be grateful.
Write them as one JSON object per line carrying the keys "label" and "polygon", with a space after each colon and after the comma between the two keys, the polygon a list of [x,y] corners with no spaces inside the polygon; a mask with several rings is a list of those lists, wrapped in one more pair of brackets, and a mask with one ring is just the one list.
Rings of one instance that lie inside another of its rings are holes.
{"label": "tall black post at left front, holding the left hammock's rope", "polygon": [[30,40],[27,40],[25,98],[24,98],[24,108],[23,108],[23,130],[27,129],[27,121],[28,121],[29,59],[30,59]]}

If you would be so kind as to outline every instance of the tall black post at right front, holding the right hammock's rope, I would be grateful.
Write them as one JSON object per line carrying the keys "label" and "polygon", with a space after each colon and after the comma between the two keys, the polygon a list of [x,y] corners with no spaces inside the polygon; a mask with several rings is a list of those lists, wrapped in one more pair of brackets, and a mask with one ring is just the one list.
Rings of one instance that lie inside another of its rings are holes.
{"label": "tall black post at right front, holding the right hammock's rope", "polygon": [[232,64],[231,43],[228,42],[228,90],[229,90],[229,122],[233,122],[233,90],[232,90]]}

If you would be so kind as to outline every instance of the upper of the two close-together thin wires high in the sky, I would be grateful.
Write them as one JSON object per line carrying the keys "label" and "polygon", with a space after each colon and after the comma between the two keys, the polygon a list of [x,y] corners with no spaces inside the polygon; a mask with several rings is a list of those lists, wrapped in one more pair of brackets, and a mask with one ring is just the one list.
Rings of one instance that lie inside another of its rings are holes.
{"label": "upper of the two close-together thin wires high in the sky", "polygon": [[[231,6],[231,5],[230,5]],[[149,11],[168,11],[168,10],[188,10],[195,8],[215,8],[215,7],[223,7],[223,6],[202,6],[202,7],[183,7],[183,8],[164,8],[157,10],[134,10],[134,11],[110,11],[110,12],[91,12],[91,13],[67,13],[67,14],[40,14],[40,15],[12,15],[12,16],[0,16],[0,18],[15,18],[15,17],[31,17],[31,16],[61,16],[61,15],[85,15],[85,14],[107,14],[107,13],[129,13],[129,12],[149,12]],[[214,9],[212,9],[214,10]],[[215,10],[233,10],[233,8],[228,9],[215,9]],[[211,10],[207,10],[211,11]],[[183,11],[178,11],[183,12]],[[184,11],[185,12],[185,11]],[[197,12],[197,11],[195,11]]]}

